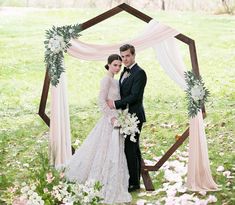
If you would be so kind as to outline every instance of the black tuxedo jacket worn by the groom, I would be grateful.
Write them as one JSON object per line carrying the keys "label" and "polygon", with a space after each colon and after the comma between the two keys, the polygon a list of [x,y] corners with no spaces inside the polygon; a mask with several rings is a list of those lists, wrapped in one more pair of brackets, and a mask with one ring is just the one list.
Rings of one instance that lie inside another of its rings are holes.
{"label": "black tuxedo jacket worn by the groom", "polygon": [[144,88],[147,82],[147,76],[138,64],[135,64],[131,70],[129,77],[125,78],[121,83],[124,71],[119,79],[121,100],[116,100],[116,109],[126,109],[129,106],[129,113],[136,113],[140,122],[146,122],[143,107]]}

